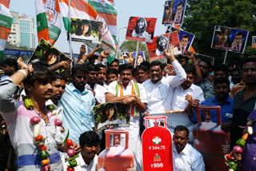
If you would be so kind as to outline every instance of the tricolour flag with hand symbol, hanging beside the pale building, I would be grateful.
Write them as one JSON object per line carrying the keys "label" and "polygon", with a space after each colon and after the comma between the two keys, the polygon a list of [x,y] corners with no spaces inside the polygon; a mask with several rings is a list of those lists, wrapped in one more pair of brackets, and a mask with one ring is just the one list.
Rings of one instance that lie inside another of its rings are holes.
{"label": "tricolour flag with hand symbol, hanging beside the pale building", "polygon": [[62,28],[58,0],[36,0],[35,6],[37,10],[38,41],[43,38],[54,45],[59,34],[61,34]]}

